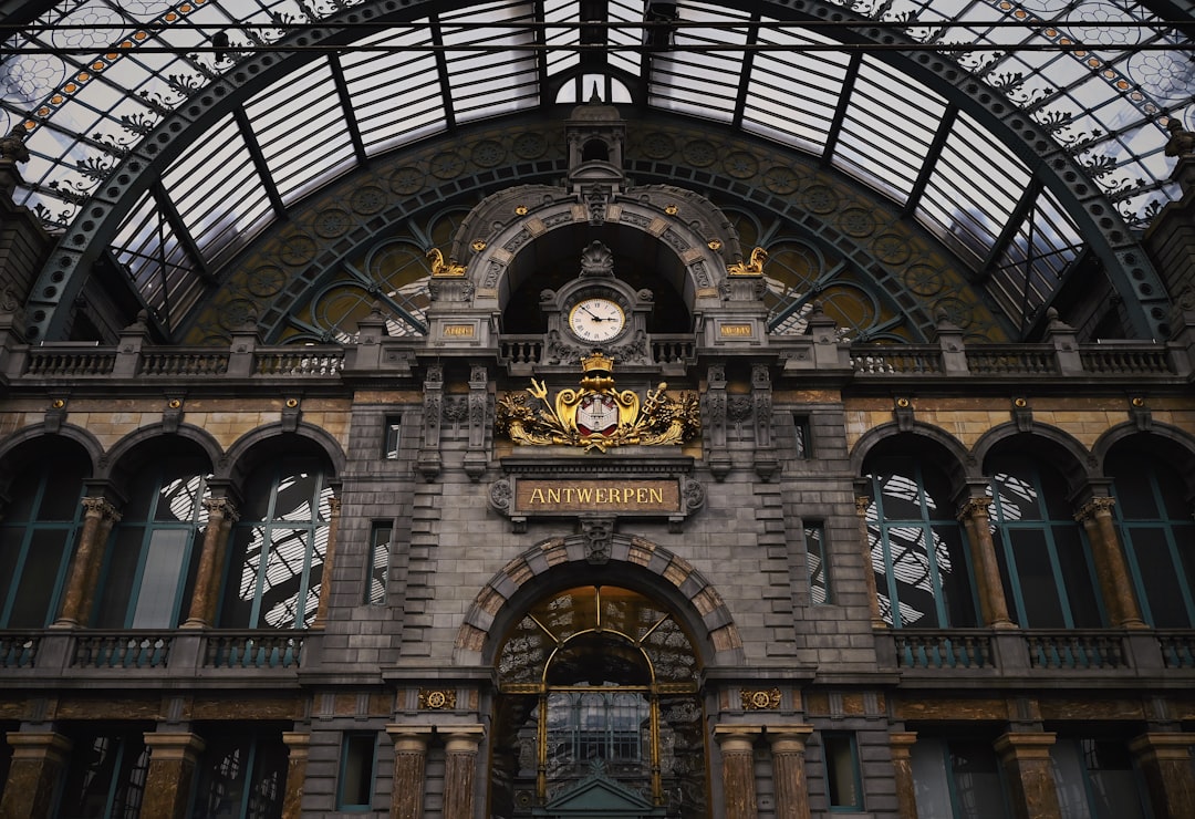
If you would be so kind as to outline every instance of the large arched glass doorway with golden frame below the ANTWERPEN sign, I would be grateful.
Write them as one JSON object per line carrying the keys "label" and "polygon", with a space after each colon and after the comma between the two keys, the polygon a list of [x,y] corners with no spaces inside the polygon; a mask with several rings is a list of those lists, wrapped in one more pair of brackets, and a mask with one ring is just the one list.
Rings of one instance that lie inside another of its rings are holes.
{"label": "large arched glass doorway with golden frame below the ANTWERPEN sign", "polygon": [[503,636],[494,817],[704,817],[699,660],[666,606],[618,586],[541,598]]}

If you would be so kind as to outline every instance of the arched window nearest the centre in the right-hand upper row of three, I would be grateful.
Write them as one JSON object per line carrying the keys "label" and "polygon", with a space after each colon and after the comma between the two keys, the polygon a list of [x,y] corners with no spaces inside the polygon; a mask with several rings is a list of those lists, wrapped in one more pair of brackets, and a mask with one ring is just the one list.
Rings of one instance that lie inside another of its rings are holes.
{"label": "arched window nearest the centre in the right-hand upper row of three", "polygon": [[868,539],[876,594],[894,628],[976,624],[970,558],[937,470],[907,457],[877,458],[868,479]]}

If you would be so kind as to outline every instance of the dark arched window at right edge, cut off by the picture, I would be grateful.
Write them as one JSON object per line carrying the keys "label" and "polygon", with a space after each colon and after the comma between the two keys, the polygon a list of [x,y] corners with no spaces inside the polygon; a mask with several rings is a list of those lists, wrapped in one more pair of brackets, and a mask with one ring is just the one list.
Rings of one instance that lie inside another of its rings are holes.
{"label": "dark arched window at right edge, cut off by the picture", "polygon": [[1108,458],[1113,512],[1145,622],[1195,625],[1195,520],[1187,483],[1170,464],[1122,450]]}

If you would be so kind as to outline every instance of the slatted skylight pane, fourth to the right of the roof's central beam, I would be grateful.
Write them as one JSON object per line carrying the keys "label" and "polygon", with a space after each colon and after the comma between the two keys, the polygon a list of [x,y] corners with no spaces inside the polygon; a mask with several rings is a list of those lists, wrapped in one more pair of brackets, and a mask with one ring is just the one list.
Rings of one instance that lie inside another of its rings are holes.
{"label": "slatted skylight pane, fourth to the right of the roof's central beam", "polygon": [[960,114],[934,166],[918,216],[975,261],[995,244],[1030,173],[987,130]]}

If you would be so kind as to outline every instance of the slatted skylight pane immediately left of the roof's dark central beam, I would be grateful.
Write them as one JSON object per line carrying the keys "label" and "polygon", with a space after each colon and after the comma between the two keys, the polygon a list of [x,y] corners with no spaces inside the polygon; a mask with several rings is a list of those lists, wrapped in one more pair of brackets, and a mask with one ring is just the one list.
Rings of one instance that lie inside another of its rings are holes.
{"label": "slatted skylight pane immediately left of the roof's dark central beam", "polygon": [[[492,23],[532,22],[534,6],[527,2],[492,2],[470,6],[441,18],[448,50],[448,86],[458,122],[509,114],[539,100],[539,71],[534,51],[514,47],[533,45],[528,29],[495,26]],[[473,47],[452,50],[453,47]],[[482,50],[476,50],[482,47]]]}

